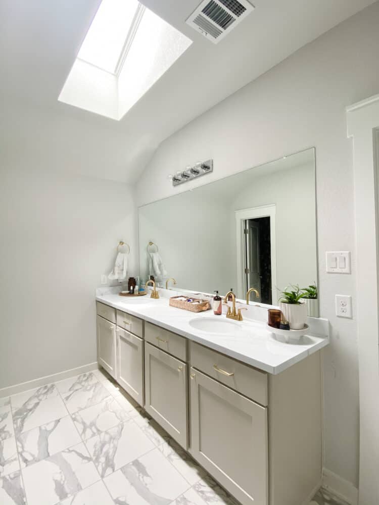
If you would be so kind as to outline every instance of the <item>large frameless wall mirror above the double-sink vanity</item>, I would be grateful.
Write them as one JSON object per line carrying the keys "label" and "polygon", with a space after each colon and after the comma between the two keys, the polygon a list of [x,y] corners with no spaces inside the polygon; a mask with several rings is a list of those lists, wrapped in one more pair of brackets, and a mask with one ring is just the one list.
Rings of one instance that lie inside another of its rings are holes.
{"label": "large frameless wall mirror above the double-sink vanity", "polygon": [[239,298],[254,287],[277,305],[278,290],[317,283],[314,148],[139,207],[138,220],[142,280]]}

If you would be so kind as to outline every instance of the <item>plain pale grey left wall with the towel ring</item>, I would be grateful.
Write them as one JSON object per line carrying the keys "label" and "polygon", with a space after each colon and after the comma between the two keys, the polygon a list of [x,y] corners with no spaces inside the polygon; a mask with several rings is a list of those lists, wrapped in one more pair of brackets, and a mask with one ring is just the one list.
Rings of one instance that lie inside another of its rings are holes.
{"label": "plain pale grey left wall with the towel ring", "polygon": [[41,164],[42,145],[28,166],[0,160],[0,388],[95,362],[94,293],[120,239],[135,273],[131,188]]}

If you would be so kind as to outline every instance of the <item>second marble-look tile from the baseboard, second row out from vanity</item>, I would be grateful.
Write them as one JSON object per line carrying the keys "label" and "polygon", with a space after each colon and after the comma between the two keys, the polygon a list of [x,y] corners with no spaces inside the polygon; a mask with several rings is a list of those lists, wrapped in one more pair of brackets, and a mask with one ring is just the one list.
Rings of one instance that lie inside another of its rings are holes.
{"label": "second marble-look tile from the baseboard, second row out from vanity", "polygon": [[129,416],[119,403],[109,396],[98,405],[76,412],[72,419],[82,439],[87,440],[127,421]]}

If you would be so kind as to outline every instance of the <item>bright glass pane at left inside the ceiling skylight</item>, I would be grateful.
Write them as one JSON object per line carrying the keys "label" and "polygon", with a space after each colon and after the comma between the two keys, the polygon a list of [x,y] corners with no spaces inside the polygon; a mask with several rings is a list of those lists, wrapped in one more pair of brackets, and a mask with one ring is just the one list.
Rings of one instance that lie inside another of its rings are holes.
{"label": "bright glass pane at left inside the ceiling skylight", "polygon": [[103,0],[80,47],[78,58],[115,73],[138,5],[136,0]]}

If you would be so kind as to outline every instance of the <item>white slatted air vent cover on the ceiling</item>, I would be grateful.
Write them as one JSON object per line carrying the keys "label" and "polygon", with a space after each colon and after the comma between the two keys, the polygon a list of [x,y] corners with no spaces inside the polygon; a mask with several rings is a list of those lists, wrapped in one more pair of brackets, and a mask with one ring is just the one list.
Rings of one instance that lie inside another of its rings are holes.
{"label": "white slatted air vent cover on the ceiling", "polygon": [[217,44],[253,10],[248,0],[204,0],[185,22]]}

